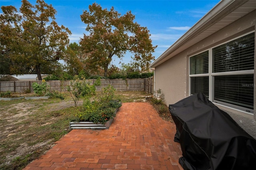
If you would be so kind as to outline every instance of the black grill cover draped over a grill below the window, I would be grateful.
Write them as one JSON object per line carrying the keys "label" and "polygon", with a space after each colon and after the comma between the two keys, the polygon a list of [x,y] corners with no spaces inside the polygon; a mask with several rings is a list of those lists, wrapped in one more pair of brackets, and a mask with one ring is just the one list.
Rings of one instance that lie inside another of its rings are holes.
{"label": "black grill cover draped over a grill below the window", "polygon": [[169,105],[169,111],[184,170],[256,170],[256,140],[203,93]]}

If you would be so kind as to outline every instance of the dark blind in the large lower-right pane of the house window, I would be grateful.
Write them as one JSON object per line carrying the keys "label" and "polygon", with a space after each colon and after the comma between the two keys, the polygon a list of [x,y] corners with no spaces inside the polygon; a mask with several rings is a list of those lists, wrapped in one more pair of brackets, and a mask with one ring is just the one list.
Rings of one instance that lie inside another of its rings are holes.
{"label": "dark blind in the large lower-right pane of the house window", "polygon": [[214,76],[214,100],[253,109],[254,75]]}

